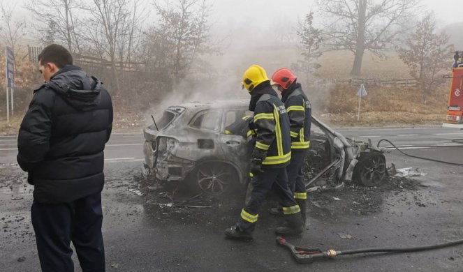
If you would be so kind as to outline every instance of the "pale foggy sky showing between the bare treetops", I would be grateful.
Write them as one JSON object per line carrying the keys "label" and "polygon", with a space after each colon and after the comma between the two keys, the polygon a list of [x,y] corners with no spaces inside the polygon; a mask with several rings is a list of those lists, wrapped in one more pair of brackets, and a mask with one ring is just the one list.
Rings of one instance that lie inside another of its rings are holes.
{"label": "pale foggy sky showing between the bare treetops", "polygon": [[[0,0],[10,5],[13,1]],[[24,3],[31,0],[16,0],[15,15],[30,18]],[[143,6],[152,8],[152,1],[142,0]],[[172,0],[176,1],[176,0]],[[462,0],[421,0],[427,10],[434,10],[439,27],[455,22],[463,22]],[[210,0],[213,3],[210,22],[214,33],[222,36],[246,34],[249,38],[262,31],[277,27],[294,27],[298,18],[303,18],[310,10],[316,10],[315,0]],[[155,20],[150,13],[148,21]],[[252,29],[247,31],[247,29]],[[242,32],[244,31],[244,32]],[[254,31],[254,32],[253,32]],[[462,34],[463,35],[463,34]],[[244,37],[245,38],[245,37]]]}

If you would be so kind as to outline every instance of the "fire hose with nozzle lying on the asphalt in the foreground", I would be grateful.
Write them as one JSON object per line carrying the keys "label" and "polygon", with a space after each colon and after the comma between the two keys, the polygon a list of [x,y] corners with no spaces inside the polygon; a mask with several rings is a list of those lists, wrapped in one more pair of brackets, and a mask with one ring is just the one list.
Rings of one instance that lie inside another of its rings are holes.
{"label": "fire hose with nozzle lying on the asphalt in the foreground", "polygon": [[302,248],[300,246],[291,245],[286,239],[277,236],[277,243],[281,246],[285,246],[291,250],[291,254],[295,257],[296,262],[302,264],[311,264],[314,261],[321,259],[333,259],[341,255],[353,255],[359,253],[369,253],[369,252],[395,252],[395,253],[404,253],[404,252],[418,252],[424,250],[435,250],[438,248],[447,248],[453,245],[463,244],[463,239],[450,241],[446,243],[437,243],[435,245],[422,245],[409,248],[360,248],[355,250],[326,250],[322,251],[318,248]]}

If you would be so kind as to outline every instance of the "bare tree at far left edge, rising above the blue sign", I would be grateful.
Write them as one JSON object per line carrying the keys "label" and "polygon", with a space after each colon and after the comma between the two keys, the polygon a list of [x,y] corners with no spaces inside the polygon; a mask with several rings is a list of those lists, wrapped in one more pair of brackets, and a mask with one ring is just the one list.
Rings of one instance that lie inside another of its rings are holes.
{"label": "bare tree at far left edge, rising above the blue sign", "polygon": [[[0,37],[5,40],[6,45],[11,47],[13,54],[17,55],[18,43],[21,38],[24,38],[26,35],[25,28],[26,22],[24,20],[13,20],[13,6],[3,6],[3,3],[0,3],[0,16],[3,27],[0,31]],[[16,69],[16,57],[15,57],[15,69]]]}

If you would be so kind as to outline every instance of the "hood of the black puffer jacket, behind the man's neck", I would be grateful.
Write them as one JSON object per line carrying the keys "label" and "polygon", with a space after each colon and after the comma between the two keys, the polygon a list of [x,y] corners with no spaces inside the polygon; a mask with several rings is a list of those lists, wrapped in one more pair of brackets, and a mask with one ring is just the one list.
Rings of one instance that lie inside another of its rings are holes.
{"label": "hood of the black puffer jacket, behind the man's neck", "polygon": [[82,111],[94,109],[99,105],[103,89],[102,82],[73,65],[66,65],[59,69],[44,86]]}

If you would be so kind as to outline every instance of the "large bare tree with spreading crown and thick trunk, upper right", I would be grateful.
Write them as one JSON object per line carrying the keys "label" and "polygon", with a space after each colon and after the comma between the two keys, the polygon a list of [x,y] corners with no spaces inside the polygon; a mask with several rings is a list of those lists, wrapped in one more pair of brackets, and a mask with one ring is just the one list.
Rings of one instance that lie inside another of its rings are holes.
{"label": "large bare tree with spreading crown and thick trunk, upper right", "polygon": [[351,75],[360,75],[365,51],[383,50],[404,32],[420,0],[319,0],[325,35],[331,50],[349,50],[355,59]]}

